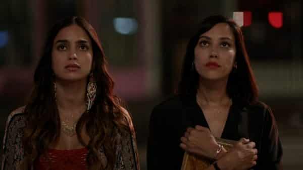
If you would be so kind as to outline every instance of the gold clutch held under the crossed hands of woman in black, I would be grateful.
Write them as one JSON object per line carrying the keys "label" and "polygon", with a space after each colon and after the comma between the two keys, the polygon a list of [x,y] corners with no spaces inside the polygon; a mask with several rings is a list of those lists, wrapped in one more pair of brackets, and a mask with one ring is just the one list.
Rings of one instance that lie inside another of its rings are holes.
{"label": "gold clutch held under the crossed hands of woman in black", "polygon": [[[237,142],[234,140],[227,140],[222,138],[216,138],[216,141],[220,145],[223,145],[223,147],[227,151],[230,150],[233,147],[233,145]],[[213,160],[207,157],[197,156],[185,152],[183,156],[181,170],[203,170],[207,168],[209,165],[211,165],[212,163]]]}

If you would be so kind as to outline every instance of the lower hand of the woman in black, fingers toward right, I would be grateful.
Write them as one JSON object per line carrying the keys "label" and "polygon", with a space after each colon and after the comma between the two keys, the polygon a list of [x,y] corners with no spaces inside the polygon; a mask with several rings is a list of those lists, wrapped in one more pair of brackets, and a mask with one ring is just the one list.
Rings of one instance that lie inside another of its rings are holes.
{"label": "lower hand of the woman in black, fingers toward right", "polygon": [[217,161],[222,169],[244,170],[257,164],[258,150],[255,142],[241,138],[231,150]]}

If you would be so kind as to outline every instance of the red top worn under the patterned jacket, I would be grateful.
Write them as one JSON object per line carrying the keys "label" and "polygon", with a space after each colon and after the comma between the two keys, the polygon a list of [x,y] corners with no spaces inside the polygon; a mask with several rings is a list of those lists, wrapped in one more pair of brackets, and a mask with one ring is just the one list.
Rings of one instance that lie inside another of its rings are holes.
{"label": "red top worn under the patterned jacket", "polygon": [[49,149],[47,156],[40,156],[35,163],[39,170],[87,170],[86,148],[72,150]]}

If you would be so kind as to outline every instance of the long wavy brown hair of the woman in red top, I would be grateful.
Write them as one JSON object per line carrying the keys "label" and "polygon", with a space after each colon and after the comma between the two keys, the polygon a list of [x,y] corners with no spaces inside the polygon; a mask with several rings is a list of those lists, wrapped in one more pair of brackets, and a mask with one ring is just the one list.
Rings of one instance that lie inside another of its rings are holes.
{"label": "long wavy brown hair of the woman in red top", "polygon": [[[58,22],[48,34],[41,59],[34,74],[34,89],[25,107],[27,124],[24,130],[23,147],[25,159],[22,169],[30,169],[34,162],[46,153],[60,135],[60,118],[53,88],[52,49],[58,32],[76,24],[83,28],[92,41],[93,67],[91,72],[97,85],[96,97],[89,111],[83,113],[76,125],[78,140],[88,148],[88,169],[113,169],[116,147],[115,133],[129,130],[129,115],[113,94],[114,82],[107,71],[107,62],[95,30],[81,17],[70,17]],[[85,145],[80,132],[85,128],[90,141]],[[103,148],[107,163],[103,164],[99,150]]]}

